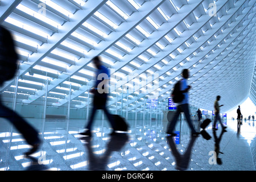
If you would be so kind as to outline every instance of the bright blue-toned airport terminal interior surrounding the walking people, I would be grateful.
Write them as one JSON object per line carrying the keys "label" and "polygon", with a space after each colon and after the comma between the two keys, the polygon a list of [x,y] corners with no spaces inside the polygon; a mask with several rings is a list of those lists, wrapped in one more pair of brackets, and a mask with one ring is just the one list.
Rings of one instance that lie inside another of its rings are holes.
{"label": "bright blue-toned airport terminal interior surrounding the walking people", "polygon": [[[255,171],[255,13],[255,0],[1,0],[18,69],[0,87],[0,171]],[[96,56],[109,71],[106,109],[128,127],[112,133],[100,109],[88,137]],[[167,132],[184,69],[198,135],[184,110]],[[3,108],[37,131],[31,155]]]}

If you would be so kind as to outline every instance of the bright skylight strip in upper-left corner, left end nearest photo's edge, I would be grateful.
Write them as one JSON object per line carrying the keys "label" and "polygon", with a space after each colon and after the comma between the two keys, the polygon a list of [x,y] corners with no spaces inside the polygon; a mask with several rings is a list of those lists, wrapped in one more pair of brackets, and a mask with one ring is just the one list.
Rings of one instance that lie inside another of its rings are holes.
{"label": "bright skylight strip in upper-left corner, left end nearest photo's edge", "polygon": [[37,28],[31,27],[28,24],[24,24],[22,22],[19,22],[18,20],[14,19],[14,18],[11,18],[10,16],[5,19],[5,22],[14,24],[14,26],[23,28],[24,30],[30,31],[30,32],[32,32],[32,33],[34,33],[36,35],[43,36],[44,38],[50,37],[50,35],[47,34],[46,32],[43,32],[43,31],[41,31],[41,30],[39,30]]}

